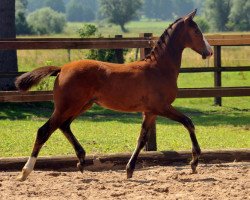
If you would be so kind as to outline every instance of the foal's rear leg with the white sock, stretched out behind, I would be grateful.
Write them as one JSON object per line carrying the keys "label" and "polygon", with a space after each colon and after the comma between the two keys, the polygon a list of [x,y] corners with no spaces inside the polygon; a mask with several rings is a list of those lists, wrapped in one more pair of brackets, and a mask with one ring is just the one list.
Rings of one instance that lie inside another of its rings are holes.
{"label": "foal's rear leg with the white sock, stretched out behind", "polygon": [[24,181],[27,179],[29,174],[34,169],[37,156],[42,146],[57,128],[58,128],[57,120],[52,116],[41,128],[38,129],[32,154],[29,157],[26,164],[24,165],[21,174],[17,177],[17,180]]}

